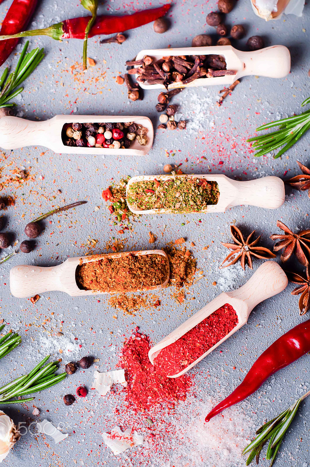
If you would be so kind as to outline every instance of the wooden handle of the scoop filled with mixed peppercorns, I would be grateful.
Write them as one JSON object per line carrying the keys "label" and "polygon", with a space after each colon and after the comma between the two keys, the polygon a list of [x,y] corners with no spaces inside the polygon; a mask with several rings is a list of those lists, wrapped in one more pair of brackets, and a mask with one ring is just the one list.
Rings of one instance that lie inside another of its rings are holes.
{"label": "wooden handle of the scoop filled with mixed peppercorns", "polygon": [[[23,146],[48,146],[53,135],[47,131],[47,121],[32,121],[18,117],[0,119],[0,146],[3,149],[17,149]],[[55,137],[55,135],[54,135]]]}

